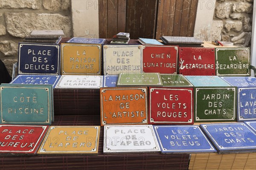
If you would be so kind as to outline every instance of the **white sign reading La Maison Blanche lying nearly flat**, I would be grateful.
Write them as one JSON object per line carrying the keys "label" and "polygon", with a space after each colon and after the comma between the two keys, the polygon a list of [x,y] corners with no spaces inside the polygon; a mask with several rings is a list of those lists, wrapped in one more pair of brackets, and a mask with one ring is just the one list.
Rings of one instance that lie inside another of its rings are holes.
{"label": "white sign reading La Maison Blanche lying nearly flat", "polygon": [[102,76],[62,75],[55,88],[100,88]]}

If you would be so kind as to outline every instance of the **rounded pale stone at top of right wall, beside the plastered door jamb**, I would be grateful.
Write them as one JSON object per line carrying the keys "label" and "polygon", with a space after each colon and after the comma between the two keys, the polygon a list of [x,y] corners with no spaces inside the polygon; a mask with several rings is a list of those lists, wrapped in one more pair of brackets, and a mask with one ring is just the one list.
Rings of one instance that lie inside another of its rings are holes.
{"label": "rounded pale stone at top of right wall, beside the plastered door jamb", "polygon": [[219,3],[215,9],[215,16],[219,19],[228,18],[231,10],[231,2],[224,1]]}

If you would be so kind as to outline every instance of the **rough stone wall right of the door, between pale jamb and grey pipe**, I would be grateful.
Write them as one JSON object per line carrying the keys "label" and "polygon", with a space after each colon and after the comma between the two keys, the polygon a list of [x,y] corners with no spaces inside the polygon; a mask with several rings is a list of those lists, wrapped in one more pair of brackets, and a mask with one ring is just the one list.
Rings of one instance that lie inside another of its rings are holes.
{"label": "rough stone wall right of the door, between pale jamb and grey pipe", "polygon": [[212,32],[237,47],[250,47],[253,0],[217,0]]}

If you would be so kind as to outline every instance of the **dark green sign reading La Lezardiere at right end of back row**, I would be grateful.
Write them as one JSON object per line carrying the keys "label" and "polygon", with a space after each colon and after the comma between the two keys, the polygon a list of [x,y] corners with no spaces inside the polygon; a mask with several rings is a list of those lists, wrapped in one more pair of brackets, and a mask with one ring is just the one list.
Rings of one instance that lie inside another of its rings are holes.
{"label": "dark green sign reading La Lezardiere at right end of back row", "polygon": [[250,76],[250,48],[216,48],[217,76]]}

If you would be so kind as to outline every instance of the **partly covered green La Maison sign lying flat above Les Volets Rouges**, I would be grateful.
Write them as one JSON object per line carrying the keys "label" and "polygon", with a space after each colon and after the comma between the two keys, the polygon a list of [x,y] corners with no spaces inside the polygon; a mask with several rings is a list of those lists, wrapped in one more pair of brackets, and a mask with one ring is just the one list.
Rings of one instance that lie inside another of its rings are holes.
{"label": "partly covered green La Maison sign lying flat above Les Volets Rouges", "polygon": [[179,74],[160,74],[163,87],[192,87],[193,85]]}

